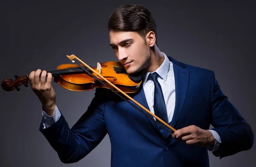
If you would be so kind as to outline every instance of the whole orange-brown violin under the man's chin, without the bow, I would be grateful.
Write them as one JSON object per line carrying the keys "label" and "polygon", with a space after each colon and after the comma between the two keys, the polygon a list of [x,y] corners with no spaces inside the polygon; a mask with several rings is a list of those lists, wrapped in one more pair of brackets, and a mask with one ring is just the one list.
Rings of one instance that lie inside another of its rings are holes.
{"label": "whole orange-brown violin under the man's chin, without the bow", "polygon": [[[125,69],[122,68],[120,62],[104,62],[97,63],[97,65],[90,65],[91,68],[97,68],[99,73],[112,84],[116,85],[125,93],[134,93],[140,90],[141,84],[141,74],[127,74]],[[103,80],[95,73],[92,73],[91,70],[87,70],[96,76],[98,79]],[[54,82],[57,82],[61,87],[70,90],[70,91],[93,91],[93,88],[107,88],[96,79],[93,79],[90,75],[75,64],[63,64],[57,67],[55,71],[47,71],[54,76]],[[4,91],[20,91],[20,85],[28,87],[29,83],[29,74],[25,76],[15,75],[15,80],[4,79],[1,83],[1,86]],[[114,89],[111,85],[109,85]],[[117,91],[117,90],[115,90]]]}

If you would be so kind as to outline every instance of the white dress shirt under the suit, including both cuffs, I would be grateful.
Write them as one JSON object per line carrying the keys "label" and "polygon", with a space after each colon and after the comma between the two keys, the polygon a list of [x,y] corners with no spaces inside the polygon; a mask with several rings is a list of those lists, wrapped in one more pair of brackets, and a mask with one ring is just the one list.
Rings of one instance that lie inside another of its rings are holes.
{"label": "white dress shirt under the suit, including both cuffs", "polygon": [[[172,62],[169,61],[166,54],[164,54],[163,52],[162,54],[164,55],[165,59],[162,65],[160,65],[160,67],[153,72],[157,72],[157,74],[159,74],[159,76],[157,77],[157,80],[160,83],[161,88],[163,90],[163,97],[166,104],[168,121],[171,122],[172,116],[174,113],[174,108],[175,108],[175,77],[174,77]],[[150,74],[149,72],[147,72],[146,74],[143,73],[143,89],[145,92],[145,97],[148,103],[148,107],[150,111],[154,113],[154,82],[151,79],[148,79],[149,74]],[[55,106],[53,116],[48,116],[43,110],[42,110],[42,115],[43,115],[44,128],[47,128],[58,121],[58,119],[61,116],[61,113],[58,110],[58,107]],[[207,149],[209,151],[219,150],[219,147],[220,147],[219,143],[221,143],[220,136],[214,130],[209,130],[209,131],[212,133],[216,142],[214,145],[207,147]]]}

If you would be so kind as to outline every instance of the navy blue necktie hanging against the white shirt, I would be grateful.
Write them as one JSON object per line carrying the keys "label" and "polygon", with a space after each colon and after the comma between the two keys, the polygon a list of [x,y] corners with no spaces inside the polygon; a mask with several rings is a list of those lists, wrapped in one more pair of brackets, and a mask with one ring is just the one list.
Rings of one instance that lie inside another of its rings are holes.
{"label": "navy blue necktie hanging against the white shirt", "polygon": [[169,121],[166,111],[166,105],[163,98],[163,91],[160,83],[157,81],[157,76],[159,76],[157,72],[148,75],[148,77],[150,77],[154,82],[154,113],[156,116],[158,116],[160,119],[168,124]]}

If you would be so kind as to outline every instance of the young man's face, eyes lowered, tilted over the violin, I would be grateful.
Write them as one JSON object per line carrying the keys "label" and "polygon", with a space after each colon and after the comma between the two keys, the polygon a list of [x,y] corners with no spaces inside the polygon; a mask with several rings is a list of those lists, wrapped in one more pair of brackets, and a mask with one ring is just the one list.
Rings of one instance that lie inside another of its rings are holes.
{"label": "young man's face, eyes lowered, tilted over the violin", "polygon": [[134,74],[147,66],[150,46],[137,32],[110,31],[109,38],[116,57],[128,74]]}

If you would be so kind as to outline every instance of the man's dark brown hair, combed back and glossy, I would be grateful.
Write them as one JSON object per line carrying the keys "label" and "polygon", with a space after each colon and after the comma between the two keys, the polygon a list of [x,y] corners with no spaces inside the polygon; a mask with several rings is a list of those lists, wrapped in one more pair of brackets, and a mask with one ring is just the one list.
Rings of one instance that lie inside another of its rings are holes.
{"label": "man's dark brown hair, combed back and glossy", "polygon": [[157,43],[157,27],[151,12],[139,5],[123,5],[117,8],[108,19],[108,30],[135,31],[145,41],[149,31],[155,33]]}

